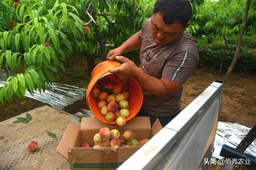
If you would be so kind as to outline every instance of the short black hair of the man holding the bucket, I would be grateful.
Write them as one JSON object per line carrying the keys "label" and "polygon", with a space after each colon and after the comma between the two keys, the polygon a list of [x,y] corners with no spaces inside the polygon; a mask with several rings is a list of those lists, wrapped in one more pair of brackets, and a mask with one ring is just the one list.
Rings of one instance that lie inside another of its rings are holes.
{"label": "short black hair of the man holding the bucket", "polygon": [[157,0],[154,13],[160,12],[165,24],[178,21],[184,27],[192,16],[192,8],[188,0]]}

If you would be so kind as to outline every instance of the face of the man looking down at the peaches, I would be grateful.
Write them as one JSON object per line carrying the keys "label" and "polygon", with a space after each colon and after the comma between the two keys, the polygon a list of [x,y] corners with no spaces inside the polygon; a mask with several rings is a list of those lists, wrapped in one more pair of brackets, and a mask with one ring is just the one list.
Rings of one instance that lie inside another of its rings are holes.
{"label": "face of the man looking down at the peaches", "polygon": [[187,26],[183,27],[178,21],[174,22],[171,25],[167,25],[164,23],[160,12],[158,12],[153,14],[151,18],[151,36],[154,43],[156,43],[157,45],[165,45],[167,43],[172,43],[177,40],[182,32],[187,28]]}

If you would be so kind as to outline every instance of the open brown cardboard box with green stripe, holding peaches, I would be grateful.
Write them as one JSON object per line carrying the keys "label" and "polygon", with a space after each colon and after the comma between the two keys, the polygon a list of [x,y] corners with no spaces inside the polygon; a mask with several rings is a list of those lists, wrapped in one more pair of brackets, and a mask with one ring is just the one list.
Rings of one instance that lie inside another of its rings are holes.
{"label": "open brown cardboard box with green stripe, holding peaches", "polygon": [[138,141],[144,138],[150,139],[162,129],[158,119],[151,128],[149,117],[134,117],[127,121],[124,127],[104,123],[96,117],[82,118],[80,128],[73,123],[69,123],[57,152],[70,162],[71,169],[116,169],[141,147],[80,148],[84,142],[87,142],[91,147],[94,146],[93,137],[103,127],[107,127],[110,130],[118,129],[121,134],[126,130],[132,130],[134,138]]}

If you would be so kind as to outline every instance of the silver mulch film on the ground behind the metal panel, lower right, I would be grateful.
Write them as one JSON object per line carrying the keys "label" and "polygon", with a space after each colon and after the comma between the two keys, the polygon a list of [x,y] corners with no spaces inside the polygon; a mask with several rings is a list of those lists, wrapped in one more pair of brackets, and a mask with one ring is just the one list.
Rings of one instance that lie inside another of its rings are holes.
{"label": "silver mulch film on the ground behind the metal panel, lower right", "polygon": [[[220,156],[220,150],[223,144],[227,144],[233,148],[241,142],[244,136],[249,132],[250,128],[237,123],[229,122],[218,122],[217,132],[214,142],[214,152],[212,157],[214,158],[223,158]],[[250,144],[250,146],[245,151],[248,154],[256,156],[256,140]]]}

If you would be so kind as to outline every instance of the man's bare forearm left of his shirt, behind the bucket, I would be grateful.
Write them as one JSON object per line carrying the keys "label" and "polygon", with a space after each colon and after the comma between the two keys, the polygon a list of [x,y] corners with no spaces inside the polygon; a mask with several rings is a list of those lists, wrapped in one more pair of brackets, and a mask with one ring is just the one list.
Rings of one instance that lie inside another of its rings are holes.
{"label": "man's bare forearm left of his shirt, behind the bucket", "polygon": [[126,40],[126,42],[124,42],[120,46],[120,49],[122,50],[122,53],[127,53],[134,49],[140,48],[140,46],[141,46],[141,38],[139,36],[139,32],[136,32],[128,40]]}

